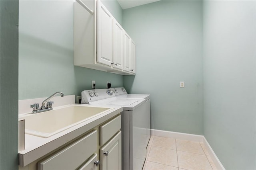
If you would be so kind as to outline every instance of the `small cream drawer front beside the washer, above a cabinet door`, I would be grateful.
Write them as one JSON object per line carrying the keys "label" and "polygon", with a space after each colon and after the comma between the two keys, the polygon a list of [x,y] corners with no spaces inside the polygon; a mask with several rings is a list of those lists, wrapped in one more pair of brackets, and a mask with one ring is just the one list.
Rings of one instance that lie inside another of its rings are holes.
{"label": "small cream drawer front beside the washer, above a cabinet door", "polygon": [[100,126],[100,146],[104,145],[121,129],[121,115]]}

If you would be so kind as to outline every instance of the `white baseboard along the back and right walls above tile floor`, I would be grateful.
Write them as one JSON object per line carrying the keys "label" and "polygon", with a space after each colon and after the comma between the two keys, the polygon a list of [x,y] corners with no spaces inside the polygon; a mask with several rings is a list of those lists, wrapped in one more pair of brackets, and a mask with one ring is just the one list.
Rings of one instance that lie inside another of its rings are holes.
{"label": "white baseboard along the back and right walls above tile floor", "polygon": [[156,130],[151,129],[151,135],[153,136],[159,136],[159,137],[169,137],[174,139],[180,139],[180,140],[188,140],[188,141],[194,141],[194,142],[202,142],[205,144],[206,149],[208,150],[210,157],[212,158],[216,168],[218,170],[225,170],[224,166],[212,150],[211,146],[205,139],[203,135],[193,135],[189,133],[179,133],[179,132],[172,132],[172,131],[162,131],[162,130]]}

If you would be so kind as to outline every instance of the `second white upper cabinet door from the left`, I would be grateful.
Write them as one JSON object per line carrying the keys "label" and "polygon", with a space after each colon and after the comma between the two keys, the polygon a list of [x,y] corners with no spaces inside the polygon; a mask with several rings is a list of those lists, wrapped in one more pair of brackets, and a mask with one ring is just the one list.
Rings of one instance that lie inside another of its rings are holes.
{"label": "second white upper cabinet door from the left", "polygon": [[113,20],[113,67],[123,69],[123,28]]}

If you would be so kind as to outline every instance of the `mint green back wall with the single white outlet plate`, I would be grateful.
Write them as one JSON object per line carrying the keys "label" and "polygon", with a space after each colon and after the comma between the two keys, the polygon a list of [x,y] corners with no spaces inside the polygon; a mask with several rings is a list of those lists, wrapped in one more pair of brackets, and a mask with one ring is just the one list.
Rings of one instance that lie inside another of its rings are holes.
{"label": "mint green back wall with the single white outlet plate", "polygon": [[202,1],[130,8],[123,27],[136,42],[136,76],[124,76],[124,86],[151,95],[152,129],[202,135]]}

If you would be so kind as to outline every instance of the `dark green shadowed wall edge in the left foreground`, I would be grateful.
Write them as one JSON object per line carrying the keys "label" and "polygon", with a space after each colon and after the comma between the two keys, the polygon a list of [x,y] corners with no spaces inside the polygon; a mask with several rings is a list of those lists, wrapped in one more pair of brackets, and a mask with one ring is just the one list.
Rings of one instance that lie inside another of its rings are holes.
{"label": "dark green shadowed wall edge in the left foreground", "polygon": [[0,1],[0,169],[18,169],[18,10]]}

